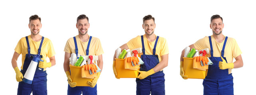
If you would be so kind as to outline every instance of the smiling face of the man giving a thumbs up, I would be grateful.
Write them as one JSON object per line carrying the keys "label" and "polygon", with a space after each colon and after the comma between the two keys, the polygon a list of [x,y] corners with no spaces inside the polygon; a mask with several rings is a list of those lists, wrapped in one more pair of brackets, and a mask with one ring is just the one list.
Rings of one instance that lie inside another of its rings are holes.
{"label": "smiling face of the man giving a thumbs up", "polygon": [[224,24],[220,18],[212,19],[210,24],[210,28],[212,29],[213,34],[219,35],[222,34],[222,28],[224,28]]}

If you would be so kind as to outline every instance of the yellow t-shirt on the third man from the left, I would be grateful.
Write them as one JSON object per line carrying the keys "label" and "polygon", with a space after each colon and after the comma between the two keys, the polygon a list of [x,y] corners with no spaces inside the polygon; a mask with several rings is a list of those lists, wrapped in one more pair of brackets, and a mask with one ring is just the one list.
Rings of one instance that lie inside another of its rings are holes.
{"label": "yellow t-shirt on the third man from the left", "polygon": [[[153,48],[155,46],[155,41],[150,42],[145,34],[143,35],[143,40],[144,40],[144,46],[145,46],[145,53],[146,55],[153,55]],[[129,47],[130,50],[136,49],[141,47],[142,48],[142,43],[141,43],[141,36],[137,36],[133,39],[131,39],[129,42],[126,43],[127,46]],[[162,61],[161,56],[169,54],[169,49],[168,49],[168,44],[165,38],[159,37],[157,46],[156,46],[156,55],[158,55],[159,62]],[[141,53],[141,55],[143,55]]]}

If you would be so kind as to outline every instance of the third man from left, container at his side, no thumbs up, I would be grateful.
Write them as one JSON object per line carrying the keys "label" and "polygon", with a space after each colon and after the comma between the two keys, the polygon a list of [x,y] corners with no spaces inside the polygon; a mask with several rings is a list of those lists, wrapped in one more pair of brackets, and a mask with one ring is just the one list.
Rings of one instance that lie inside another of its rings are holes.
{"label": "third man from left, container at his side, no thumbs up", "polygon": [[[122,50],[143,48],[141,59],[144,64],[141,65],[140,74],[136,78],[137,95],[149,95],[150,93],[151,95],[165,95],[163,68],[168,65],[169,49],[166,39],[155,35],[155,27],[155,18],[151,15],[145,16],[142,24],[145,34],[131,39],[120,47]],[[113,71],[117,78],[115,56],[116,53],[113,59]]]}

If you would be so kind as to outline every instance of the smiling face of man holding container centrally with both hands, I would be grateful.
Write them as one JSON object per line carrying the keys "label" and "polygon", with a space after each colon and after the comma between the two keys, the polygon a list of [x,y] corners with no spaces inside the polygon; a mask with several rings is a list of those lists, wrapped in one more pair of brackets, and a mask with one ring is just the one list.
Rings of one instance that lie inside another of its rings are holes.
{"label": "smiling face of man holding container centrally with both hands", "polygon": [[79,19],[76,24],[76,28],[78,29],[79,34],[85,35],[88,32],[88,28],[90,24],[88,23],[87,19]]}

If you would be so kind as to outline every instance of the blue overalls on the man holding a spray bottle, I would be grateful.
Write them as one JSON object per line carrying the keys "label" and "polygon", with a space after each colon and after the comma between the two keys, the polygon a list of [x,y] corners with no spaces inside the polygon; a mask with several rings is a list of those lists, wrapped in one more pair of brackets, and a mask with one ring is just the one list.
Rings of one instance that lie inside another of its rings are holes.
{"label": "blue overalls on the man holding a spray bottle", "polygon": [[[28,69],[28,66],[30,65],[30,62],[32,61],[33,57],[40,55],[44,37],[42,37],[37,55],[30,53],[30,45],[28,42],[28,36],[26,36],[26,41],[27,41],[27,45],[28,45],[28,54],[26,54],[26,58],[25,58],[25,61],[23,64],[23,69],[20,71],[20,72],[22,72],[23,76],[25,75],[25,73]],[[42,58],[42,55],[40,55],[40,57]],[[39,61],[38,61],[38,65],[39,65]],[[46,78],[47,73],[46,73],[46,71],[44,71],[43,68],[41,68],[41,70],[39,70],[38,65],[36,68],[36,72],[35,72],[32,84],[28,84],[23,81],[19,82],[17,95],[30,95],[31,92],[33,93],[33,95],[47,95],[47,83],[46,83],[47,82],[47,78]]]}

